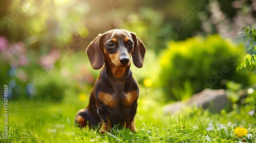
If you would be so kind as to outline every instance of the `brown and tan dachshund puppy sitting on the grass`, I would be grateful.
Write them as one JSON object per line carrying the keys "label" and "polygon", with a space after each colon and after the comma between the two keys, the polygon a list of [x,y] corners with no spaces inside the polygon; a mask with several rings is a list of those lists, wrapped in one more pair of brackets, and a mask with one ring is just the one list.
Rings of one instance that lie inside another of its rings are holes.
{"label": "brown and tan dachshund puppy sitting on the grass", "polygon": [[[100,69],[87,108],[79,110],[75,122],[90,128],[101,124],[99,132],[122,125],[136,132],[139,86],[130,70],[131,62],[141,68],[146,48],[129,31],[114,29],[99,34],[87,47],[86,53],[93,69]],[[104,65],[103,65],[104,64]]]}

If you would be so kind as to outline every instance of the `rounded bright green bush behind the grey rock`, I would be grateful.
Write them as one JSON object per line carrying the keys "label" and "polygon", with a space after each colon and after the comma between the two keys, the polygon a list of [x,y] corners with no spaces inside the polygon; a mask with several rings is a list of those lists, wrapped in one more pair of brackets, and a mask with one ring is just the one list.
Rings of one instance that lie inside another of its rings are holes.
{"label": "rounded bright green bush behind the grey rock", "polygon": [[185,81],[196,93],[205,88],[226,88],[227,80],[248,86],[254,78],[248,73],[236,73],[244,55],[243,44],[235,45],[219,35],[171,41],[167,46],[160,55],[158,81],[171,99],[177,99],[174,91],[183,88]]}

